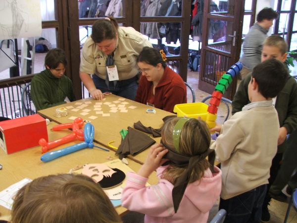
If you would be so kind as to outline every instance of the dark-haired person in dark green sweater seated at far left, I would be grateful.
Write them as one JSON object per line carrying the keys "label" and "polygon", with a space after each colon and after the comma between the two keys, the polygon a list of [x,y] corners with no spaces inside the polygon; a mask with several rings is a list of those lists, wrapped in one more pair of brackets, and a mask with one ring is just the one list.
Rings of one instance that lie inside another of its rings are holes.
{"label": "dark-haired person in dark green sweater seated at far left", "polygon": [[75,101],[72,81],[64,75],[66,66],[63,50],[55,48],[48,52],[46,69],[31,81],[31,98],[37,111]]}

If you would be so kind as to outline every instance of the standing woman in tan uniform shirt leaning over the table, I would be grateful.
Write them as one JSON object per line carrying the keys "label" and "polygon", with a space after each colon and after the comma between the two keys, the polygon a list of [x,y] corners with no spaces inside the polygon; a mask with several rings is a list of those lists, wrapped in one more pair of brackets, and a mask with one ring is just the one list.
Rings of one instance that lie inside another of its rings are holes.
{"label": "standing woman in tan uniform shirt leaning over the table", "polygon": [[112,17],[97,20],[84,44],[80,63],[80,78],[91,96],[101,100],[107,91],[134,100],[139,73],[136,59],[146,46],[152,47],[134,28],[119,27]]}

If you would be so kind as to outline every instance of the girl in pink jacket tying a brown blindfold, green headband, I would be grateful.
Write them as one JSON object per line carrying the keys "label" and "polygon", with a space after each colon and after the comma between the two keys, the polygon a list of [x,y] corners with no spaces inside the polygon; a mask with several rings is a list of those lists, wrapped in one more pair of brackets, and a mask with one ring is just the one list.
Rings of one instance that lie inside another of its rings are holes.
{"label": "girl in pink jacket tying a brown blindfold, green headband", "polygon": [[[206,223],[220,195],[222,175],[213,167],[215,154],[209,145],[204,121],[181,117],[166,121],[161,144],[150,148],[138,173],[127,174],[122,206],[145,214],[145,223]],[[154,170],[159,182],[146,187]]]}

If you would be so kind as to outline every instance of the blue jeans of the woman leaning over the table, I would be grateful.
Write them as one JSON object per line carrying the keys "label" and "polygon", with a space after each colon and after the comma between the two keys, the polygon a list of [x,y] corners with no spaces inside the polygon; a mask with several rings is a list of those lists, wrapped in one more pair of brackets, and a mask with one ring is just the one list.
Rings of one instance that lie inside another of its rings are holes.
{"label": "blue jeans of the woman leaning over the table", "polygon": [[138,88],[137,76],[132,77],[128,80],[117,81],[114,86],[114,82],[110,81],[109,86],[106,85],[105,80],[93,74],[93,81],[97,89],[103,92],[111,92],[114,95],[121,96],[130,100],[134,100],[136,91]]}

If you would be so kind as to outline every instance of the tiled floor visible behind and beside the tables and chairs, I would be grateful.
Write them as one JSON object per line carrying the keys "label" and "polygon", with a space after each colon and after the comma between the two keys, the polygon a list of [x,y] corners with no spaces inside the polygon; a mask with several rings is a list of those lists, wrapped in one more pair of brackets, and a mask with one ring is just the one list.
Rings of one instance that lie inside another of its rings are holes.
{"label": "tiled floor visible behind and beside the tables and chairs", "polygon": [[[297,67],[297,66],[295,66],[295,67]],[[297,75],[296,70],[294,70],[294,72]],[[192,72],[192,71],[189,70],[188,71],[188,80],[187,80],[187,82],[195,90],[196,102],[200,102],[203,98],[205,98],[206,96],[209,95],[208,93],[205,93],[205,92],[200,91],[198,89],[198,72]],[[188,102],[191,102],[191,101],[192,101],[192,94],[188,90]],[[226,114],[227,114],[227,109],[221,103],[221,105],[220,105],[220,107],[218,109],[217,121],[219,123],[222,123],[223,120],[225,119]],[[231,114],[230,114],[230,116],[231,116]],[[208,222],[210,222],[210,220],[218,212],[218,204],[219,204],[219,202],[217,201],[216,204],[214,205],[214,207],[211,209],[211,211],[209,213]],[[286,211],[287,211],[287,208],[288,208],[287,203],[282,203],[282,202],[279,202],[279,201],[276,201],[276,200],[272,199],[271,203],[270,203],[270,206],[268,208],[269,208],[269,211],[270,211],[270,214],[271,214],[270,223],[282,223],[284,221],[285,216],[286,216]],[[297,212],[295,212],[294,208],[291,209],[288,223],[297,223]]]}

